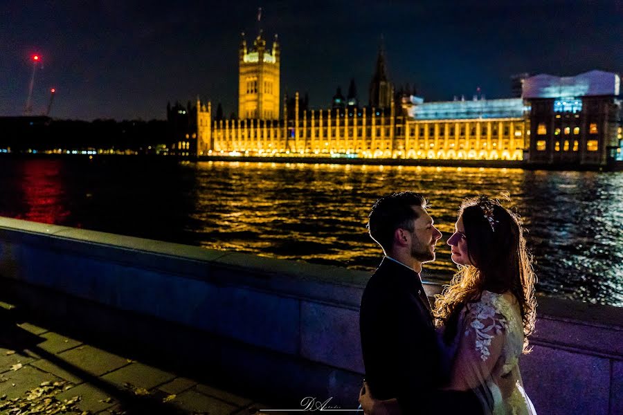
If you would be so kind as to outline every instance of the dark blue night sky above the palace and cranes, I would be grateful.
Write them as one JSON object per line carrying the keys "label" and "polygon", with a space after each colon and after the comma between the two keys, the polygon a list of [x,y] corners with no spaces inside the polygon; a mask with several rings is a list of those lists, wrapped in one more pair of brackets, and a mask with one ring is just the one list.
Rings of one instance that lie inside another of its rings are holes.
{"label": "dark blue night sky above the palace and cranes", "polygon": [[[163,3],[163,6],[155,6]],[[257,9],[282,46],[281,91],[329,105],[354,77],[359,99],[379,39],[397,85],[426,101],[510,95],[510,75],[623,71],[623,0],[610,1],[2,1],[0,116],[20,115],[33,53],[34,113],[49,89],[55,118],[164,119],[168,101],[197,95],[237,111],[240,33]]]}

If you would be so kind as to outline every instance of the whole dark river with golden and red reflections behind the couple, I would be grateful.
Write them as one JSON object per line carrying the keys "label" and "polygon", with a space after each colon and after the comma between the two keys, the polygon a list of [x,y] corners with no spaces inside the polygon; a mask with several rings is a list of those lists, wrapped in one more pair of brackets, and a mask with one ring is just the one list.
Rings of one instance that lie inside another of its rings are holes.
{"label": "whole dark river with golden and red reflections behind the couple", "polygon": [[623,173],[96,156],[0,160],[0,215],[206,248],[373,270],[378,196],[424,193],[443,233],[424,277],[448,280],[458,205],[509,196],[529,231],[537,290],[623,306]]}

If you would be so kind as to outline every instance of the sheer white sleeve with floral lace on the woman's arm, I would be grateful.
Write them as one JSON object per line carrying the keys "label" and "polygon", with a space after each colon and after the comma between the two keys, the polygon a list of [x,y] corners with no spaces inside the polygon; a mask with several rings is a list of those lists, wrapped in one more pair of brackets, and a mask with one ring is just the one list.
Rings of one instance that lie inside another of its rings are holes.
{"label": "sheer white sleeve with floral lace on the woman's arm", "polygon": [[502,356],[507,326],[507,319],[487,295],[464,308],[451,389],[475,389],[485,383]]}

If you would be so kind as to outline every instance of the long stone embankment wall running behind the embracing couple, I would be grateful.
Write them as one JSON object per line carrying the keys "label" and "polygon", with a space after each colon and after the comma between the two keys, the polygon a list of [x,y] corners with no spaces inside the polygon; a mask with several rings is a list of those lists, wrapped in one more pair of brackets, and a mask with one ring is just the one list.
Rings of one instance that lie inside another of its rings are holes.
{"label": "long stone embankment wall running behind the embracing couple", "polygon": [[[293,403],[314,396],[356,408],[359,300],[368,277],[0,218],[0,283],[35,312],[62,297],[66,309],[68,298],[78,299],[100,316],[146,316],[205,333],[202,365]],[[426,285],[429,295],[439,289]],[[115,330],[114,319],[98,321],[96,330]],[[623,413],[623,308],[541,297],[536,329],[521,369],[537,412]]]}

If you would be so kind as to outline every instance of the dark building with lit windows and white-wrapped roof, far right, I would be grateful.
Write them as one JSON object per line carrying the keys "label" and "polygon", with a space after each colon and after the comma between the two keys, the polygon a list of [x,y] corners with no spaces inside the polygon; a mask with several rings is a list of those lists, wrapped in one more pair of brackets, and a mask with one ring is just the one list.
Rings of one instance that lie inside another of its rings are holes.
{"label": "dark building with lit windows and white-wrapped roof, far right", "polygon": [[528,163],[607,165],[620,158],[620,77],[590,71],[525,80],[530,105]]}

